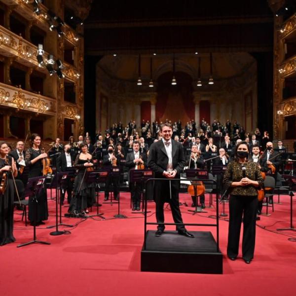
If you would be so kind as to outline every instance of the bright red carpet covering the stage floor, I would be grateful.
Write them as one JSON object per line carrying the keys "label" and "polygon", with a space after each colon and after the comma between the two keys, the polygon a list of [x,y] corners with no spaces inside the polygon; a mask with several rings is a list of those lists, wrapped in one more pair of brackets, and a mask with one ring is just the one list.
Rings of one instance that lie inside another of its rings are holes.
{"label": "bright red carpet covering the stage floor", "polygon": [[[80,222],[74,229],[67,228],[71,231],[69,235],[51,236],[52,229],[37,227],[37,239],[50,242],[49,246],[35,244],[16,248],[33,237],[33,227],[25,227],[21,212],[16,211],[16,242],[0,247],[1,295],[295,295],[296,242],[288,238],[296,237],[296,233],[271,232],[290,225],[289,196],[282,196],[284,204],[275,205],[275,212],[270,217],[261,217],[258,222],[265,229],[257,227],[255,259],[249,265],[241,258],[226,259],[228,222],[220,222],[220,247],[224,254],[222,275],[140,272],[143,215],[131,214],[129,193],[121,193],[121,199],[122,214],[129,219],[113,219],[117,205],[104,204],[100,211],[105,213],[106,221],[63,218],[68,224]],[[182,194],[180,200],[191,205],[187,194]],[[50,218],[45,226],[55,222],[55,202],[49,199],[48,205]],[[149,220],[154,222],[154,203],[149,203],[148,207],[152,211]],[[228,204],[226,212],[227,208]],[[67,209],[63,207],[63,211]],[[206,209],[207,214],[195,216],[187,213],[189,207],[181,209],[185,222],[213,222],[208,216],[215,215],[215,209]],[[296,199],[294,210],[296,212]],[[91,214],[95,211],[93,209]],[[296,225],[296,215],[294,220]],[[169,210],[166,221],[172,221]],[[215,236],[215,229],[212,232]]]}

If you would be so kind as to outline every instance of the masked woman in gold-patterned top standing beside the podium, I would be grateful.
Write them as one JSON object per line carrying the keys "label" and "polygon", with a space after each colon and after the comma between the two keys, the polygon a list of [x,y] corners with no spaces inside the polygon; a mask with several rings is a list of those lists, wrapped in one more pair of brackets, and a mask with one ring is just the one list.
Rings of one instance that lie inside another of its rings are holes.
{"label": "masked woman in gold-patterned top standing beside the podium", "polygon": [[229,190],[229,228],[227,256],[235,260],[238,255],[239,237],[242,218],[243,259],[249,264],[254,258],[256,237],[256,212],[258,205],[257,189],[264,184],[259,167],[249,161],[249,147],[240,142],[234,150],[234,160],[224,173],[223,184]]}

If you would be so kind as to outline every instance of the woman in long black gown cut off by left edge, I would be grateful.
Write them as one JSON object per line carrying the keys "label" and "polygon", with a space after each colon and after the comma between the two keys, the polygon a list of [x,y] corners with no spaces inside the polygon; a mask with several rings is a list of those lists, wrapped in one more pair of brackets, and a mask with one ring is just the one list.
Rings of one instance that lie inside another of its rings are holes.
{"label": "woman in long black gown cut off by left edge", "polygon": [[[8,156],[8,146],[0,142],[0,178],[5,178],[5,190],[0,193],[0,246],[15,241],[13,236],[13,180],[17,176],[14,159]],[[4,175],[5,174],[5,175]],[[4,176],[3,176],[4,175]],[[4,187],[3,187],[4,189]]]}

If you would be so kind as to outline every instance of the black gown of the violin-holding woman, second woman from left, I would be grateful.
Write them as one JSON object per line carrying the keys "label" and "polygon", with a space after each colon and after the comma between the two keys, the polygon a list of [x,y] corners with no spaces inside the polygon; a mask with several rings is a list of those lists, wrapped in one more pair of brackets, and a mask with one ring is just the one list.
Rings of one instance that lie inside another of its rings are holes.
{"label": "black gown of the violin-holding woman, second woman from left", "polygon": [[[32,164],[31,160],[36,158],[41,154],[41,149],[36,150],[34,148],[29,148],[26,151],[25,161],[26,166],[29,166],[29,175],[28,178],[40,177],[42,176],[42,159],[37,160]],[[46,194],[46,184],[44,187],[37,193],[37,204],[32,203],[34,196],[29,198],[29,220],[34,221],[34,206],[36,205],[36,222],[40,222],[48,219],[48,208],[47,208],[47,194]]]}

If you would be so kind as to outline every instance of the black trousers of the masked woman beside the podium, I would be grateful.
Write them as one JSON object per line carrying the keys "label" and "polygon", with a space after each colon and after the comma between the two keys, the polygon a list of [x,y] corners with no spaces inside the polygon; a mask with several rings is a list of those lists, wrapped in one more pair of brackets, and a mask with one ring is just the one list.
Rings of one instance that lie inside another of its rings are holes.
{"label": "black trousers of the masked woman beside the podium", "polygon": [[236,258],[238,255],[240,228],[243,224],[243,259],[252,260],[255,250],[256,212],[258,197],[230,195],[229,198],[229,228],[227,256]]}

